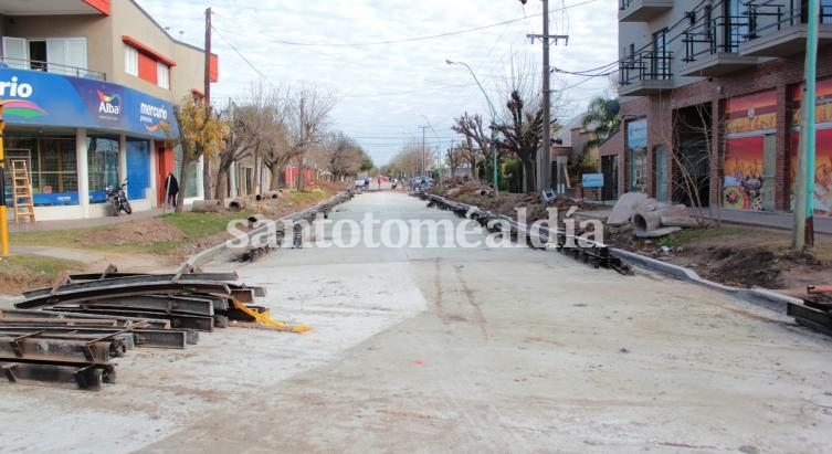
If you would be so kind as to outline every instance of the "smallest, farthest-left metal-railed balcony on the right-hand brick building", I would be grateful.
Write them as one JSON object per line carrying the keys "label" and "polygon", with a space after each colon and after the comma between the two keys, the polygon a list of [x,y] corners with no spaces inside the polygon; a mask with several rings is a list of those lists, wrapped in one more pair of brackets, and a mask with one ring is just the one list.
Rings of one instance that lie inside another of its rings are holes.
{"label": "smallest, farthest-left metal-railed balcony on the right-hand brick building", "polygon": [[673,54],[643,51],[621,63],[620,96],[647,96],[673,88]]}

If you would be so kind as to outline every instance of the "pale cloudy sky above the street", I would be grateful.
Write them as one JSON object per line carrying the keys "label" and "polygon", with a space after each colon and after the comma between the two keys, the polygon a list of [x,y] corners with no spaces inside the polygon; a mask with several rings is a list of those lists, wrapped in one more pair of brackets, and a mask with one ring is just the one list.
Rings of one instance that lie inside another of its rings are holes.
{"label": "pale cloudy sky above the street", "polygon": [[[136,0],[175,39],[203,47],[204,10],[212,9],[212,51],[220,82],[215,105],[244,102],[252,82],[314,85],[337,104],[329,129],[352,137],[376,165],[424,141],[445,150],[462,137],[453,118],[489,108],[498,115],[512,81],[540,81],[543,2],[528,0]],[[551,66],[581,72],[618,59],[617,0],[550,0]],[[609,77],[556,73],[552,117],[567,123],[597,95],[614,96]],[[422,129],[420,126],[426,126]]]}

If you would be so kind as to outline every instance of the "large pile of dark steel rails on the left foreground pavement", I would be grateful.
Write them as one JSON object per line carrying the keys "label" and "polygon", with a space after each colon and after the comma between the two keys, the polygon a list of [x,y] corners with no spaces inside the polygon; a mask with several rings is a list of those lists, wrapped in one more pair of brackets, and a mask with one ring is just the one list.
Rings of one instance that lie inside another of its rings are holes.
{"label": "large pile of dark steel rails on the left foreground pavement", "polygon": [[70,275],[0,310],[0,368],[10,382],[99,389],[114,358],[137,347],[183,349],[199,331],[267,318],[262,287],[236,273]]}

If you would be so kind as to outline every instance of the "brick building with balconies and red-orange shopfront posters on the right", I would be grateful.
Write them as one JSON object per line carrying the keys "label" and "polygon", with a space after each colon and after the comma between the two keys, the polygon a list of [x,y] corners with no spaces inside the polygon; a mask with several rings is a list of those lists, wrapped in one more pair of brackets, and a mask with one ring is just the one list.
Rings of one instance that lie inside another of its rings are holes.
{"label": "brick building with balconies and red-orange shopfront posters on the right", "polygon": [[[600,150],[614,189],[790,211],[807,4],[621,0],[622,128]],[[832,217],[832,1],[820,7],[814,207]]]}

